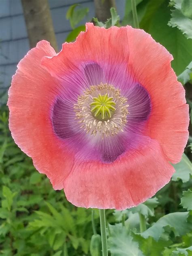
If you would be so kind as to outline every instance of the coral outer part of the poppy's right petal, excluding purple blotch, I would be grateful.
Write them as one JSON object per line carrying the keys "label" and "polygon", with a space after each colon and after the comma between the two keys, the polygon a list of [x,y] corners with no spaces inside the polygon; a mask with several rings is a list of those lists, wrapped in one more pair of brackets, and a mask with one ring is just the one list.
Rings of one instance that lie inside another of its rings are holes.
{"label": "coral outer part of the poppy's right petal, excluding purple blotch", "polygon": [[185,90],[171,68],[173,57],[143,30],[127,30],[129,70],[151,97],[146,134],[162,145],[169,161],[177,163],[188,140],[189,114]]}

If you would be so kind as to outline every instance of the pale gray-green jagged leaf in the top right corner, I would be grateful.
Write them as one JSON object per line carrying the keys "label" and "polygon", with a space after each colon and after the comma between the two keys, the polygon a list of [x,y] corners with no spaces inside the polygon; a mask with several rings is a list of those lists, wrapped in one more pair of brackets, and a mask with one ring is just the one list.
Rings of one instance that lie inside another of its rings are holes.
{"label": "pale gray-green jagged leaf in the top right corner", "polygon": [[[183,15],[181,12],[181,2],[177,0],[175,10],[171,11],[171,19],[168,23],[169,26],[177,27],[186,36],[186,38],[192,38],[192,20]],[[191,11],[192,12],[192,11]]]}

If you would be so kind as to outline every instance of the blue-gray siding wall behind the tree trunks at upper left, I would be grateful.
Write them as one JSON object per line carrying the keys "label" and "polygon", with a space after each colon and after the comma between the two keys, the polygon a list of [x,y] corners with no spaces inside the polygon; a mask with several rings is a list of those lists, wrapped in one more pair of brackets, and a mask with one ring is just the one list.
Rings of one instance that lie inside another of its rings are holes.
{"label": "blue-gray siding wall behind the tree trunks at upper left", "polygon": [[[66,36],[71,30],[66,20],[66,12],[70,5],[79,2],[81,6],[89,7],[89,15],[81,23],[94,17],[93,0],[49,0],[53,25],[61,48]],[[116,0],[117,12],[124,16],[125,0]],[[0,92],[8,88],[11,77],[15,73],[17,63],[26,55],[29,43],[23,10],[20,0],[0,0]]]}

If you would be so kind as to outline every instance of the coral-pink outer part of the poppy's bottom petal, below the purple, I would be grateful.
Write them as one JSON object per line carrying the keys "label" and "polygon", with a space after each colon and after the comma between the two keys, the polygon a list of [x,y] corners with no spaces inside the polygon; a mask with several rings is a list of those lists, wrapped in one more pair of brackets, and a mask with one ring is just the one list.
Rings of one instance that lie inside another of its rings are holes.
{"label": "coral-pink outer part of the poppy's bottom petal, below the purple", "polygon": [[68,201],[78,207],[123,210],[153,196],[173,173],[159,143],[141,137],[137,150],[112,164],[75,159],[64,192]]}

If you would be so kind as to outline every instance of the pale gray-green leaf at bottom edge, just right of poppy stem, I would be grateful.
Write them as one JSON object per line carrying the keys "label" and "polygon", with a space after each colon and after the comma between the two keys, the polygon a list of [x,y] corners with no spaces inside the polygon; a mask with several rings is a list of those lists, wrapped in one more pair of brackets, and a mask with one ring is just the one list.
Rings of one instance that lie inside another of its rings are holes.
{"label": "pale gray-green leaf at bottom edge, just right of poppy stem", "polygon": [[133,241],[126,228],[122,225],[109,225],[111,236],[109,237],[109,250],[111,256],[143,256],[139,250],[139,244]]}

